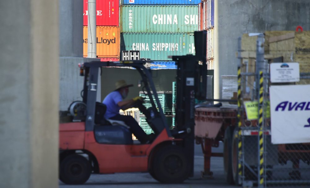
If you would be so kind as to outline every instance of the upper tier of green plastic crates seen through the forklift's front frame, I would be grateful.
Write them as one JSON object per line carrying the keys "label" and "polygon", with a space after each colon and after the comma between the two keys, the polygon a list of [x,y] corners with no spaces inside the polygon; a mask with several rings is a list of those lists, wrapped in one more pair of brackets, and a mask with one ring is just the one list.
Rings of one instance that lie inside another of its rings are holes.
{"label": "upper tier of green plastic crates seen through the forklift's front frame", "polygon": [[[145,108],[149,108],[152,106],[151,100],[149,99],[147,94],[144,94],[143,92],[139,92],[139,96],[144,98],[143,105]],[[162,106],[163,113],[166,115],[172,114],[172,92],[157,92],[157,96],[159,99],[159,103]],[[152,95],[153,100],[155,101],[154,95]],[[156,104],[156,103],[155,103]],[[156,105],[156,108],[158,109],[158,105]]]}

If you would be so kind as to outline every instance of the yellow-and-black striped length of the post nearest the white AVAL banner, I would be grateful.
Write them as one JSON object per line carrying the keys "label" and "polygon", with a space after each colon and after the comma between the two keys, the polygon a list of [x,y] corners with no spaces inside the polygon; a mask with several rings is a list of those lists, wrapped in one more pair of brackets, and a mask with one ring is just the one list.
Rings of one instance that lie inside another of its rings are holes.
{"label": "yellow-and-black striped length of the post nearest the white AVAL banner", "polygon": [[259,185],[264,183],[263,147],[263,71],[259,71]]}

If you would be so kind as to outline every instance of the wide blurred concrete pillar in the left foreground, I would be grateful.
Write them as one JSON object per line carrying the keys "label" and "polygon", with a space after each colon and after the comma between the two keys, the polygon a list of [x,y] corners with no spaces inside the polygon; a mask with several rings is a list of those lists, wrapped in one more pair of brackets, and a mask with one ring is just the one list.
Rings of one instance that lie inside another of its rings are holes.
{"label": "wide blurred concrete pillar in the left foreground", "polygon": [[0,1],[0,187],[58,187],[58,2]]}

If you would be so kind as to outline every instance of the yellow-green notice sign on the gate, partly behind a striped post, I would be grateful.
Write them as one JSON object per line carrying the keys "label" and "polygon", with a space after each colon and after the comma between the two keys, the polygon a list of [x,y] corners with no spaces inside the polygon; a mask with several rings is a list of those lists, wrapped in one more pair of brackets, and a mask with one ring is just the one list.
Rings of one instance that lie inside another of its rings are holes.
{"label": "yellow-green notice sign on the gate, partly behind a striped post", "polygon": [[[267,106],[265,111],[263,111],[266,118],[270,117],[270,101],[267,101]],[[247,120],[258,119],[258,102],[257,101],[245,101],[244,106],[246,108],[246,118]]]}

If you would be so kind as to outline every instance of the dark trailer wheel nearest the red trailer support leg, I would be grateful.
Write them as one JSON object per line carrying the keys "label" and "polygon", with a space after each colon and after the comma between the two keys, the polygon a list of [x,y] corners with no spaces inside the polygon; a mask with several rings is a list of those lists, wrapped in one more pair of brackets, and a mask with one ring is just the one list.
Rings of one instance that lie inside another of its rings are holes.
{"label": "dark trailer wheel nearest the red trailer support leg", "polygon": [[234,127],[228,126],[224,134],[224,175],[226,182],[233,185],[234,179],[232,176],[232,134]]}

